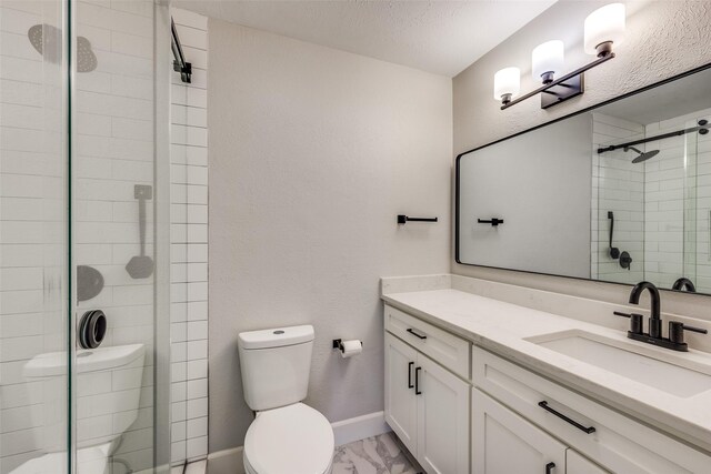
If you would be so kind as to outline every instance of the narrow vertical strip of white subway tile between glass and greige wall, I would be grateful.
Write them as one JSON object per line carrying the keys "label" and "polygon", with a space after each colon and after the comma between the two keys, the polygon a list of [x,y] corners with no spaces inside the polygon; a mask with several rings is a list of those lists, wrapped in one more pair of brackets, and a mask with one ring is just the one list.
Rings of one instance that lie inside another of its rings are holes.
{"label": "narrow vertical strip of white subway tile between glass and greige wall", "polygon": [[171,10],[192,82],[171,90],[171,463],[208,454],[208,19]]}

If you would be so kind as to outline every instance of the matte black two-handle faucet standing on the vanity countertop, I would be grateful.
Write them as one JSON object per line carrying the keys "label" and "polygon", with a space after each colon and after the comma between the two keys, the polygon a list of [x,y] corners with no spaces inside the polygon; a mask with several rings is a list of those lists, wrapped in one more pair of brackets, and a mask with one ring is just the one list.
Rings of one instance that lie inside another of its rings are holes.
{"label": "matte black two-handle faucet standing on the vanity countertop", "polygon": [[[693,285],[692,285],[693,286]],[[648,344],[659,345],[661,347],[671,349],[673,351],[688,351],[689,346],[684,342],[684,331],[707,334],[708,331],[702,327],[689,326],[680,321],[669,322],[669,337],[662,337],[662,319],[661,319],[661,295],[657,286],[650,282],[639,282],[630,293],[630,304],[639,304],[640,296],[649,290],[651,296],[651,311],[649,317],[649,333],[642,327],[642,315],[635,313],[621,313],[615,311],[618,316],[630,319],[630,330],[627,336],[635,341],[645,342]]]}

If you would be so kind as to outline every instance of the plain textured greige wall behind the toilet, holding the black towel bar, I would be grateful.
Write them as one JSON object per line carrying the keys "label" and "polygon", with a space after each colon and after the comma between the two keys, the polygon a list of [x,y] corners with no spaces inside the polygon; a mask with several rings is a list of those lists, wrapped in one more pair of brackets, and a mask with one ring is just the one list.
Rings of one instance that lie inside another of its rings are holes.
{"label": "plain textured greige wall behind the toilet, holding the black towel bar", "polygon": [[[452,97],[449,78],[222,21],[209,41],[216,452],[252,420],[240,331],[313,324],[306,402],[332,422],[382,410],[379,278],[449,271]],[[334,337],[364,351],[342,360]]]}

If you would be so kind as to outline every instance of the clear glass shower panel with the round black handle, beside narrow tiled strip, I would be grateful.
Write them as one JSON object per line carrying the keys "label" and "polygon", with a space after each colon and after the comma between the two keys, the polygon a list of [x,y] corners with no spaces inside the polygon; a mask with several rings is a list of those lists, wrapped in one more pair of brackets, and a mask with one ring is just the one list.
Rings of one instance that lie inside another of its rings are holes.
{"label": "clear glass shower panel with the round black handle, beside narrow tiled strip", "polygon": [[167,235],[157,219],[167,192],[156,174],[158,10],[153,0],[72,4],[77,472],[122,474],[156,464],[154,372],[167,359],[156,343],[168,274],[156,244]]}

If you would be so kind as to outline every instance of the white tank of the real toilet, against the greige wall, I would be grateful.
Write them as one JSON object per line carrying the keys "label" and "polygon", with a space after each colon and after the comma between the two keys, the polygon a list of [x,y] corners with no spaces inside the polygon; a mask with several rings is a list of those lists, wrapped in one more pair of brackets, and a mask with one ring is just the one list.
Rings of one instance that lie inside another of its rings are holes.
{"label": "white tank of the real toilet, against the greige wall", "polygon": [[243,332],[237,344],[242,391],[250,409],[277,409],[307,397],[313,326]]}

